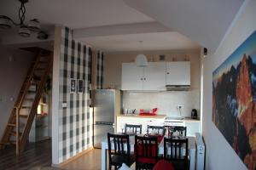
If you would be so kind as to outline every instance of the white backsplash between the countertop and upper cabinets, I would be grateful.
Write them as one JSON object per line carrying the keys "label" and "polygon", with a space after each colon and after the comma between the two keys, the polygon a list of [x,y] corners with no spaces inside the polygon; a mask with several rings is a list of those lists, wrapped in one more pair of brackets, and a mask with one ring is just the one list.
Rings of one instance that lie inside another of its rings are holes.
{"label": "white backsplash between the countertop and upper cabinets", "polygon": [[123,109],[158,108],[158,114],[180,116],[177,105],[183,105],[182,115],[190,116],[196,109],[200,116],[200,90],[169,92],[124,92]]}

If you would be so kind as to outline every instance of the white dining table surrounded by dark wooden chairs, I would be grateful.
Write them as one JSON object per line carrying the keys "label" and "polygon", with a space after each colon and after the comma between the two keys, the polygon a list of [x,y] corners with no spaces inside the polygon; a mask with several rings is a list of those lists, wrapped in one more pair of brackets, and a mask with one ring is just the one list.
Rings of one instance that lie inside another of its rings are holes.
{"label": "white dining table surrounded by dark wooden chairs", "polygon": [[[195,170],[195,137],[194,136],[186,136],[185,138],[189,139],[189,169]],[[130,150],[131,152],[134,151],[134,144],[135,144],[135,135],[129,135],[129,141],[130,141]],[[127,147],[127,144],[125,148]],[[164,154],[164,138],[161,139],[159,143],[159,155]],[[183,150],[185,150],[185,147],[183,147]],[[108,154],[108,138],[107,136],[102,139],[102,170],[107,169],[107,154]]]}

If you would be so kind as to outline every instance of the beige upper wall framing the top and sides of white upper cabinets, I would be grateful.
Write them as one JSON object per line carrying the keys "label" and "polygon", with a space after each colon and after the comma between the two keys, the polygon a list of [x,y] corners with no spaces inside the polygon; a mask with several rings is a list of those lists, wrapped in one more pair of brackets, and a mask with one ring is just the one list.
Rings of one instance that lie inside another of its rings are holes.
{"label": "beige upper wall framing the top and sides of white upper cabinets", "polygon": [[[134,62],[137,54],[142,52],[116,52],[105,54],[104,59],[104,82],[103,87],[121,88],[122,63]],[[143,51],[148,61],[159,61],[159,55],[165,54],[166,61],[190,60],[191,66],[191,88],[200,87],[200,50],[182,51]]]}

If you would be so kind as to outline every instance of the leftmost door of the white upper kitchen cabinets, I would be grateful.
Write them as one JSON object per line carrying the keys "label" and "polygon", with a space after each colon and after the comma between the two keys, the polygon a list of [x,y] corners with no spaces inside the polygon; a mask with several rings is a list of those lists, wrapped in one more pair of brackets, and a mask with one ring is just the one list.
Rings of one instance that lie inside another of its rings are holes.
{"label": "leftmost door of the white upper kitchen cabinets", "polygon": [[143,67],[135,63],[122,64],[122,90],[143,90]]}

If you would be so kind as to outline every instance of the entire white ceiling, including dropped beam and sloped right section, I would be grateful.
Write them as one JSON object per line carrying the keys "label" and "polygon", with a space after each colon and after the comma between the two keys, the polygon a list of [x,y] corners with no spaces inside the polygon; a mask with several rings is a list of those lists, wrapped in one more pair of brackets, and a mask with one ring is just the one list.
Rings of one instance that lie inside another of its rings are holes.
{"label": "entire white ceiling, including dropped beam and sloped right section", "polygon": [[[124,1],[30,0],[26,3],[26,20],[38,18],[43,28],[47,31],[51,29],[50,38],[53,38],[54,25],[68,26],[73,29],[75,38],[79,41],[108,51],[135,51],[140,40],[145,41],[143,48],[147,50],[199,48],[199,43],[214,50],[243,2],[243,0]],[[19,8],[18,0],[0,1],[0,15],[17,19]],[[146,25],[154,23],[152,29],[145,26],[143,30],[145,23]],[[125,29],[126,25],[133,30]],[[136,31],[137,26],[139,31]],[[186,37],[173,30],[181,32]],[[189,40],[188,37],[194,41]],[[18,41],[16,31],[9,33],[0,31],[0,39],[3,43],[9,44],[22,42],[21,38]],[[29,41],[26,38],[26,42]]]}

